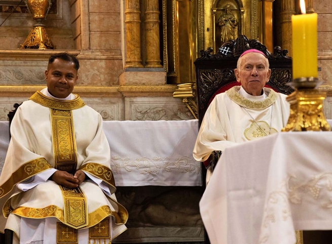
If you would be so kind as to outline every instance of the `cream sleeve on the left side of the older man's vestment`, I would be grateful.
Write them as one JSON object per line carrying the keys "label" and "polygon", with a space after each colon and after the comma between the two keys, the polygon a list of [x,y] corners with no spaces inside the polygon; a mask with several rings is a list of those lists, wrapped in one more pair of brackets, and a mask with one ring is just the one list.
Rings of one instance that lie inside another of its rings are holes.
{"label": "cream sleeve on the left side of the older man's vestment", "polygon": [[197,161],[205,161],[212,151],[223,151],[237,144],[234,142],[225,101],[217,95],[204,115],[193,156]]}

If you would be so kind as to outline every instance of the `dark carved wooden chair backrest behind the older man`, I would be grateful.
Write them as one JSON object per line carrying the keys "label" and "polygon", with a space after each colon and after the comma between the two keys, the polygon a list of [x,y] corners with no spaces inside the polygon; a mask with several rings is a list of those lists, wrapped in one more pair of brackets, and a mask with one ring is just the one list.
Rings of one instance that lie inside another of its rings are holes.
{"label": "dark carved wooden chair backrest behind the older man", "polygon": [[291,58],[287,57],[288,51],[275,47],[272,54],[258,40],[248,39],[245,35],[240,35],[236,40],[224,43],[215,54],[212,54],[212,48],[200,51],[201,57],[194,62],[200,124],[215,95],[240,85],[236,81],[234,69],[240,55],[249,49],[260,50],[269,59],[271,77],[266,87],[283,94],[293,92],[293,89],[286,85],[292,79]]}

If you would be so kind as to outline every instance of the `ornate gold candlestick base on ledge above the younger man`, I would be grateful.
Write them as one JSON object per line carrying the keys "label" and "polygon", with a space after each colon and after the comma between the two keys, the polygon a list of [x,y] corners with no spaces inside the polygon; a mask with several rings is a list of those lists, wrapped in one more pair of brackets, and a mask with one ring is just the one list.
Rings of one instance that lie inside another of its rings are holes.
{"label": "ornate gold candlestick base on ledge above the younger man", "polygon": [[49,0],[27,0],[26,5],[37,23],[33,25],[34,28],[26,37],[25,42],[21,44],[21,49],[55,49],[46,32],[45,25],[42,23],[50,7]]}

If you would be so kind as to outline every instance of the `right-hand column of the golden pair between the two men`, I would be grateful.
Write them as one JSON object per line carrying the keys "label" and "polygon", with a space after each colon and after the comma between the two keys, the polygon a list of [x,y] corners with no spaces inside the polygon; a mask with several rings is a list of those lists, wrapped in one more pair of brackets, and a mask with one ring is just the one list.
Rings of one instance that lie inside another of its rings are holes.
{"label": "right-hand column of the golden pair between the two men", "polygon": [[162,68],[160,64],[159,45],[159,8],[158,0],[145,2],[145,36],[146,36],[146,61],[147,68]]}

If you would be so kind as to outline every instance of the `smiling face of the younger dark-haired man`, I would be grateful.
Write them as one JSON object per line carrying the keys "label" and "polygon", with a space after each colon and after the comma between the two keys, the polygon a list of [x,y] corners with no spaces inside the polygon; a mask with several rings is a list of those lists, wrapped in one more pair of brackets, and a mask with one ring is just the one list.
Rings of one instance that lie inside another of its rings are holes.
{"label": "smiling face of the younger dark-haired man", "polygon": [[75,64],[57,58],[47,66],[45,79],[49,93],[57,98],[66,98],[74,89],[78,78]]}

